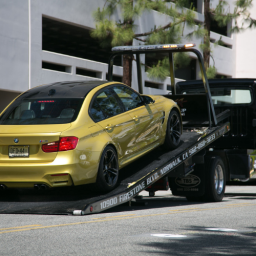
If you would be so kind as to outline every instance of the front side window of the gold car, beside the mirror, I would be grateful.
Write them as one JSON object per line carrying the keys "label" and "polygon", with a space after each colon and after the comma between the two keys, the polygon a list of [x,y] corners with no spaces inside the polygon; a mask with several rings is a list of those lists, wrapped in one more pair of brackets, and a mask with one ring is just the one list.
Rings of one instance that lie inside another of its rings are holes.
{"label": "front side window of the gold car, beside the mirror", "polygon": [[119,99],[124,104],[125,110],[131,110],[143,106],[144,103],[141,100],[139,94],[125,86],[115,86],[113,90],[118,95]]}

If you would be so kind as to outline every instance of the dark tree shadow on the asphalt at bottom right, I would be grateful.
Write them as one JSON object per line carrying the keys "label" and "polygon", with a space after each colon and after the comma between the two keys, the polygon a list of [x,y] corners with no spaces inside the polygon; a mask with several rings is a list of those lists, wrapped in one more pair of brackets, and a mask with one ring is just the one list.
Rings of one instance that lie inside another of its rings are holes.
{"label": "dark tree shadow on the asphalt at bottom right", "polygon": [[237,233],[209,231],[205,227],[188,229],[191,230],[191,236],[158,238],[159,242],[154,237],[137,245],[143,247],[145,255],[255,255],[256,231]]}

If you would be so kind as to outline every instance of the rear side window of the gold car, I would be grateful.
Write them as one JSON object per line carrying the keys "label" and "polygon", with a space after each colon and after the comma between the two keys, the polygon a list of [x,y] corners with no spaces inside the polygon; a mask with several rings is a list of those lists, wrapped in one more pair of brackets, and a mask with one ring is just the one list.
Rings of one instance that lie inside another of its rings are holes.
{"label": "rear side window of the gold car", "polygon": [[90,109],[90,115],[96,122],[116,116],[122,112],[122,108],[117,98],[109,89],[106,89],[96,95]]}

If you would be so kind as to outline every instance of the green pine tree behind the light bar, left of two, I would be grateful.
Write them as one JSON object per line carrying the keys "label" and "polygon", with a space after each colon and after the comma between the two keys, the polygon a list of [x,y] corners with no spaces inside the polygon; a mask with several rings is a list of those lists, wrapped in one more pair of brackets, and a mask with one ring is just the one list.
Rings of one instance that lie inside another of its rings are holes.
{"label": "green pine tree behind the light bar, left of two", "polygon": [[[106,0],[104,7],[94,13],[96,29],[92,36],[101,41],[101,46],[132,45],[133,39],[137,39],[144,44],[165,44],[180,43],[185,24],[193,27],[195,25],[195,14],[192,9],[182,9],[187,0],[177,0],[175,4],[167,4],[162,0]],[[121,18],[114,19],[114,14],[119,10]],[[151,31],[136,33],[134,21],[142,12],[156,10],[169,15],[170,21],[160,27],[154,27]],[[184,58],[184,57],[183,57]],[[177,58],[176,58],[177,59]],[[161,64],[166,64],[163,60]],[[131,65],[132,58],[129,55],[123,56],[123,82],[131,85]],[[163,65],[163,67],[168,67]],[[158,66],[150,69],[150,74],[163,77]]]}

